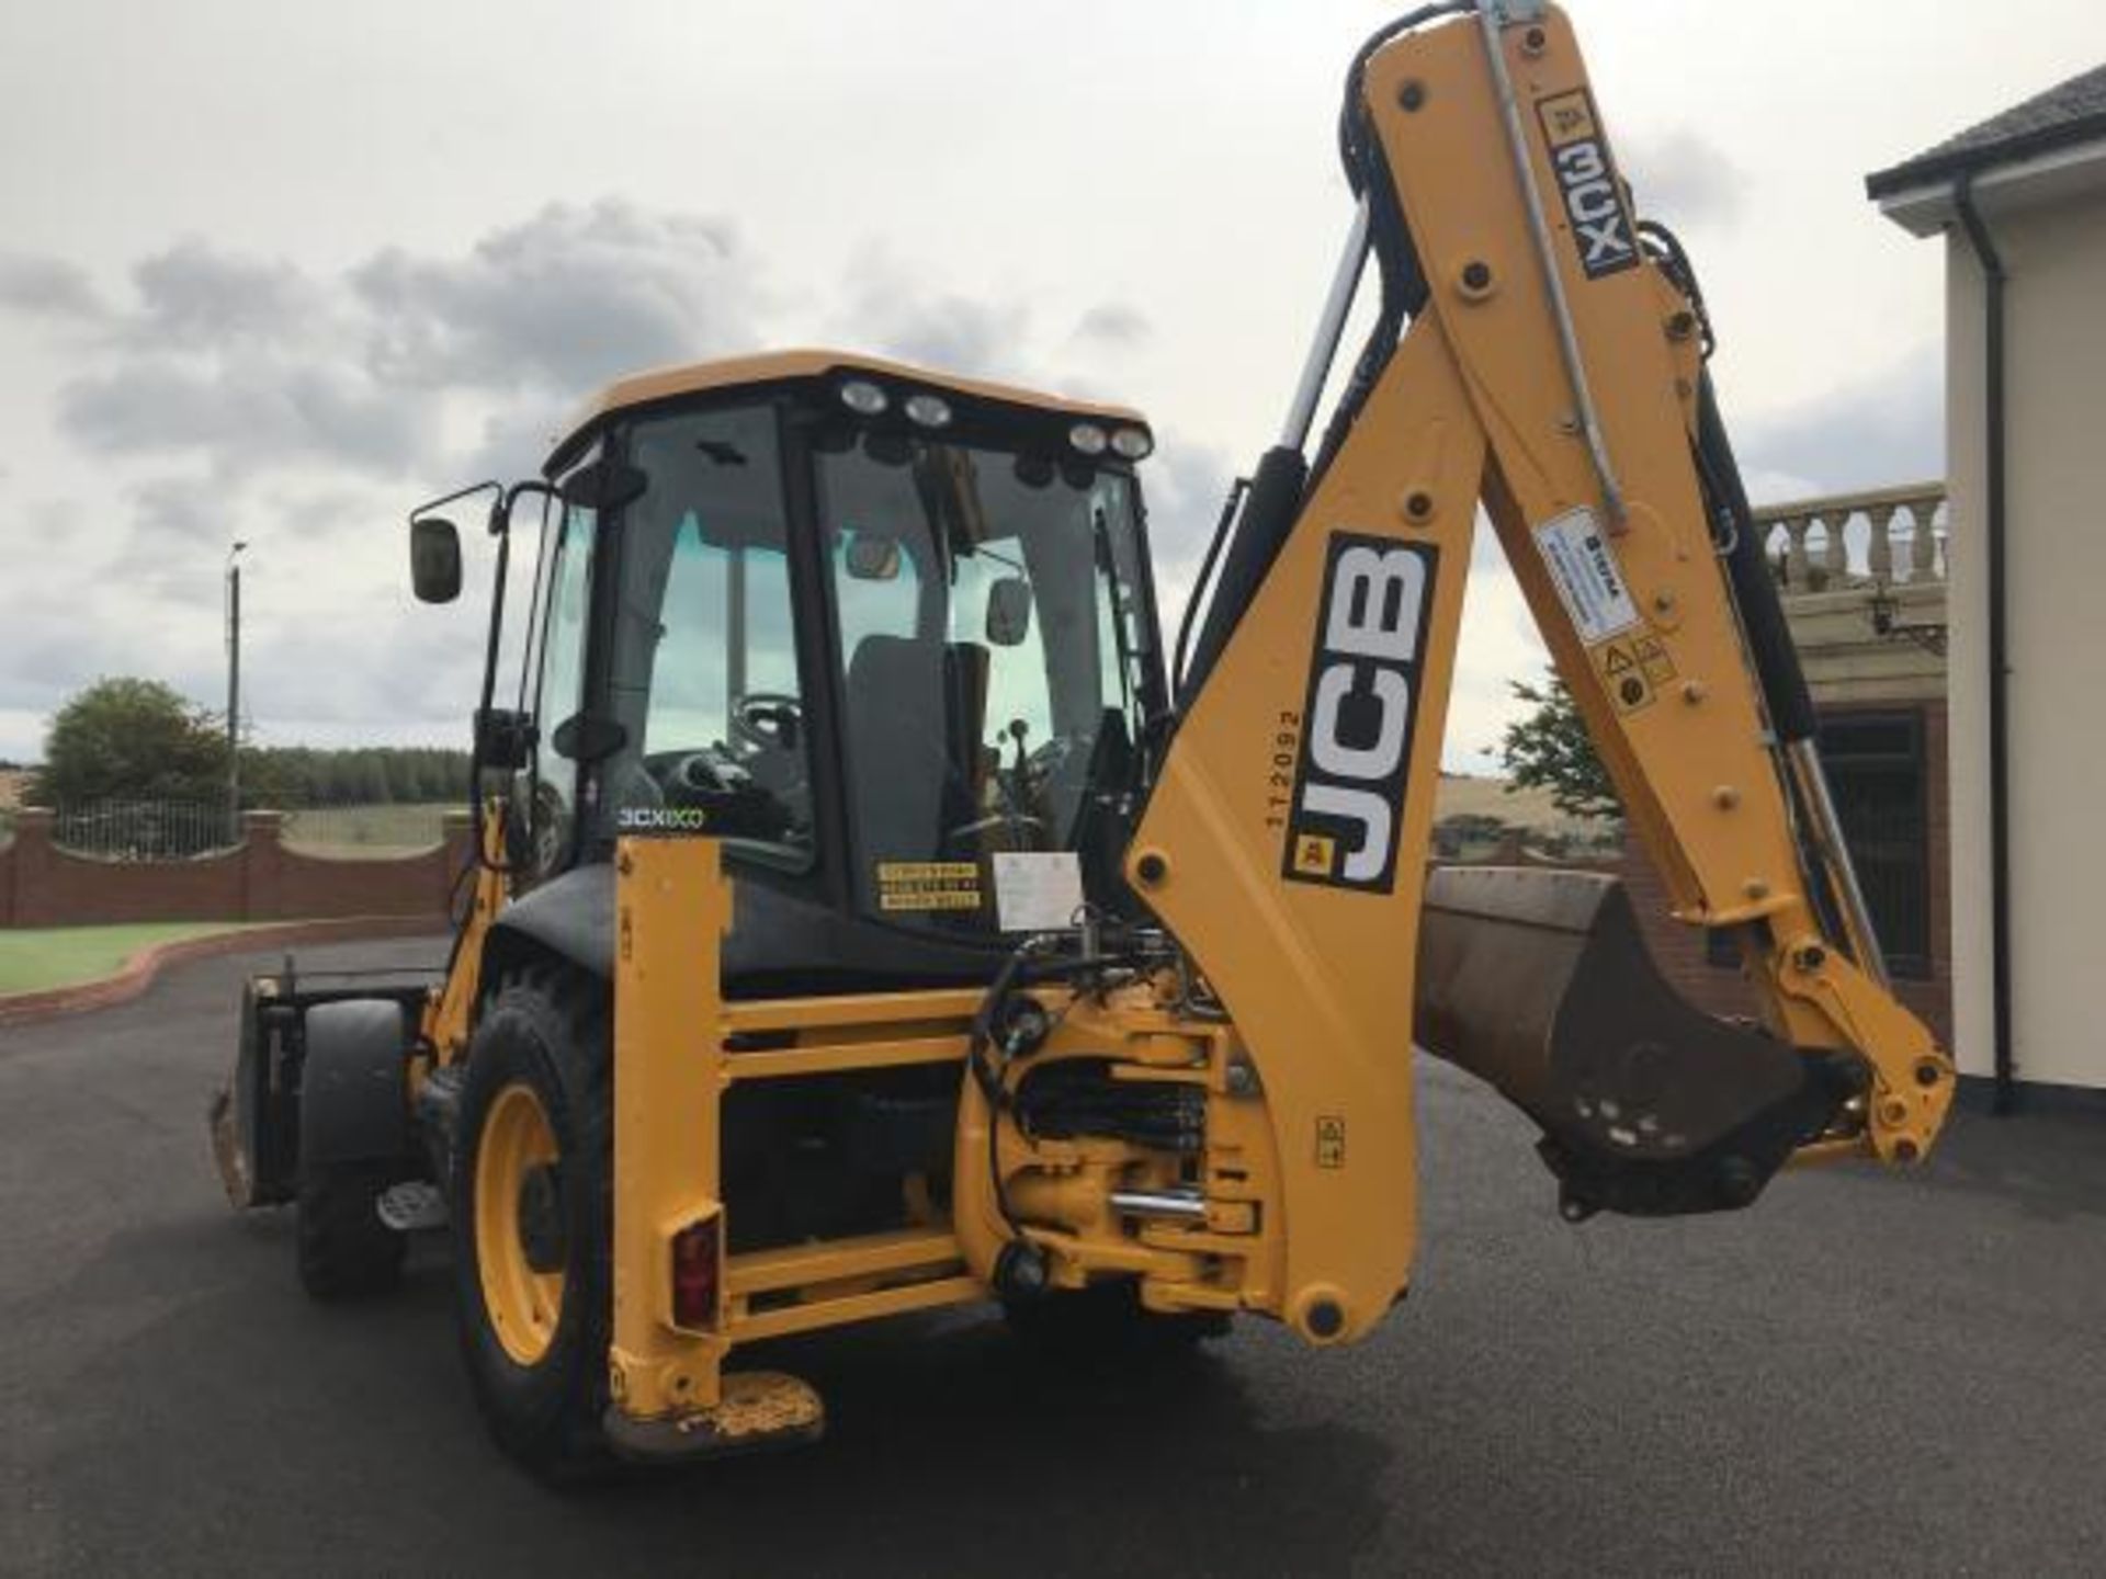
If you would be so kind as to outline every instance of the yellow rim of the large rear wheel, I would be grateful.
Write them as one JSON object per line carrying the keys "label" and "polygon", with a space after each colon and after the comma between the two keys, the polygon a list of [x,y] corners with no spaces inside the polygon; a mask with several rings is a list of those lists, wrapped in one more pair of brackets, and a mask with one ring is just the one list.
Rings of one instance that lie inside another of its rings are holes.
{"label": "yellow rim of the large rear wheel", "polygon": [[[545,1267],[548,1234],[562,1232],[560,1198],[550,1194],[556,1160],[556,1128],[533,1086],[499,1091],[476,1150],[476,1265],[491,1328],[520,1364],[539,1364],[562,1316],[560,1257],[556,1270],[537,1270],[531,1253],[539,1238]],[[550,1217],[550,1202],[556,1221],[539,1221]]]}

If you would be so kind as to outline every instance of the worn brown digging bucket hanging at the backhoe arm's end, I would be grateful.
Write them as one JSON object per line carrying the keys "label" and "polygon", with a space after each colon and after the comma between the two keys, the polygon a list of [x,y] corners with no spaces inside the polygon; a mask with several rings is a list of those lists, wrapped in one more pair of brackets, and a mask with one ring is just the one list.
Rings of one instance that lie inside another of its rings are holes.
{"label": "worn brown digging bucket hanging at the backhoe arm's end", "polygon": [[1862,1088],[1683,1002],[1622,884],[1586,872],[1430,874],[1413,1034],[1542,1124],[1575,1221],[1746,1206]]}

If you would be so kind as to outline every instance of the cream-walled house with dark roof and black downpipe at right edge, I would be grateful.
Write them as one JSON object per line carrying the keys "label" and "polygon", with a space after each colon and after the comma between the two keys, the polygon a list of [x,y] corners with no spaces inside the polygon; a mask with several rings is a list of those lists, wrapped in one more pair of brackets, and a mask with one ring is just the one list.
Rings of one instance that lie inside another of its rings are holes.
{"label": "cream-walled house with dark roof and black downpipe at right edge", "polygon": [[2106,1088],[2106,65],[1866,189],[1946,253],[1954,1053]]}

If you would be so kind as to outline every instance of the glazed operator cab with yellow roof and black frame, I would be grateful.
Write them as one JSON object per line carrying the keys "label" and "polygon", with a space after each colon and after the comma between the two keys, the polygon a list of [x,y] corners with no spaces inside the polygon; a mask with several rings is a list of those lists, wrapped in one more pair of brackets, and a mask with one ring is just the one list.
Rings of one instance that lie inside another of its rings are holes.
{"label": "glazed operator cab with yellow roof and black frame", "polygon": [[508,914],[611,928],[621,834],[724,842],[733,992],[986,979],[996,855],[1135,914],[1150,448],[1131,411],[817,352],[607,389],[493,522],[541,495],[518,707],[478,728]]}

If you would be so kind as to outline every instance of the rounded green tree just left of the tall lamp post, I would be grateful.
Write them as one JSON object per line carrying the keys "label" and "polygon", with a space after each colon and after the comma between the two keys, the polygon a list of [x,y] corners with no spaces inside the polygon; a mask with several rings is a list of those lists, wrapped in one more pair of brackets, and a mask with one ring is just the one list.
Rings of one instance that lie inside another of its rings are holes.
{"label": "rounded green tree just left of the tall lamp post", "polygon": [[227,739],[215,716],[160,680],[116,678],[53,716],[34,798],[215,800],[225,787]]}

